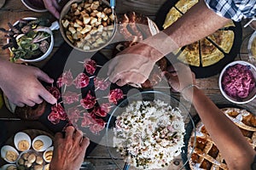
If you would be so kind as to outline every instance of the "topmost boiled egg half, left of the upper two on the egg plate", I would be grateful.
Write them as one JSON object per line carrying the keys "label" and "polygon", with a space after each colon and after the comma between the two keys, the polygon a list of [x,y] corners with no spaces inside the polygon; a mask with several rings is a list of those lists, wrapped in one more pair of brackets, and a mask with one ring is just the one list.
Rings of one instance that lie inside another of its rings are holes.
{"label": "topmost boiled egg half, left of the upper two on the egg plate", "polygon": [[17,150],[26,151],[31,147],[31,138],[26,133],[16,133],[14,143]]}

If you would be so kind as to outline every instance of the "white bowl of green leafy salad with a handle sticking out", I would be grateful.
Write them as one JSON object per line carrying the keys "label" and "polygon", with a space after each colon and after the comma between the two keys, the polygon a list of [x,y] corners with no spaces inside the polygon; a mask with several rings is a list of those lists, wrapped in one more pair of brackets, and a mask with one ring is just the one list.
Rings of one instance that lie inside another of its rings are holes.
{"label": "white bowl of green leafy salad with a handle sticking out", "polygon": [[43,26],[46,21],[34,17],[17,20],[10,30],[6,31],[9,38],[3,48],[9,47],[11,60],[20,59],[24,62],[38,62],[46,59],[54,46],[52,30],[57,26]]}

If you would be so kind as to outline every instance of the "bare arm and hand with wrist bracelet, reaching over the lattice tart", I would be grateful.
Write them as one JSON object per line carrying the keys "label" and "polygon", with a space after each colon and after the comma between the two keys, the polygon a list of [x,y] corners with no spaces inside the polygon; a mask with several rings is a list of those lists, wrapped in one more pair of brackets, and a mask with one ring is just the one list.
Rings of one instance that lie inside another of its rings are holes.
{"label": "bare arm and hand with wrist bracelet, reaching over the lattice tart", "polygon": [[[188,66],[175,65],[177,74],[166,73],[170,85],[176,91],[180,92],[189,83],[195,84],[194,74]],[[178,79],[178,77],[182,77]],[[188,80],[194,79],[189,82]],[[211,99],[198,88],[185,88],[183,97],[192,101],[195,110],[201,117],[201,121],[207,128],[212,140],[217,145],[222,156],[230,169],[250,169],[253,162],[255,151],[253,147],[243,137],[240,129],[234,122],[218,109]]]}

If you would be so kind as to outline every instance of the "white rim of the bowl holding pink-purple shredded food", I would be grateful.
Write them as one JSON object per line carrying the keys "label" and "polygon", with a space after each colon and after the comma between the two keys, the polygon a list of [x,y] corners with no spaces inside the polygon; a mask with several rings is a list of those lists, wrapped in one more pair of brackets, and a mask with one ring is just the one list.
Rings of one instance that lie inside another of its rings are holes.
{"label": "white rim of the bowl holding pink-purple shredded food", "polygon": [[[227,68],[229,68],[230,66],[236,65],[236,64],[249,65],[256,72],[256,67],[253,64],[251,64],[251,63],[249,63],[247,61],[236,60],[236,61],[230,62],[228,65],[224,66],[224,69],[219,74],[219,77],[218,77],[218,88],[219,88],[221,94],[224,96],[224,98],[228,99],[230,102],[235,103],[235,104],[247,104],[247,103],[251,102],[253,99],[255,99],[256,95],[254,95],[252,98],[244,100],[244,101],[236,101],[235,99],[231,99],[231,97],[224,92],[224,89],[222,87],[222,78],[223,78],[224,72],[227,70]],[[255,77],[254,77],[254,79],[256,81]]]}

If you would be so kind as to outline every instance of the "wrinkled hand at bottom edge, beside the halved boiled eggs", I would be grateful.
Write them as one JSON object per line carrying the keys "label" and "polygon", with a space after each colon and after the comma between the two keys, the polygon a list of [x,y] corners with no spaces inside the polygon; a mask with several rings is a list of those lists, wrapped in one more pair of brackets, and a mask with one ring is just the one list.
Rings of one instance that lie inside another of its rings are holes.
{"label": "wrinkled hand at bottom edge, beside the halved boiled eggs", "polygon": [[85,151],[90,144],[88,138],[83,137],[83,133],[74,127],[67,127],[66,135],[55,134],[54,153],[50,162],[50,169],[76,170],[84,161]]}

